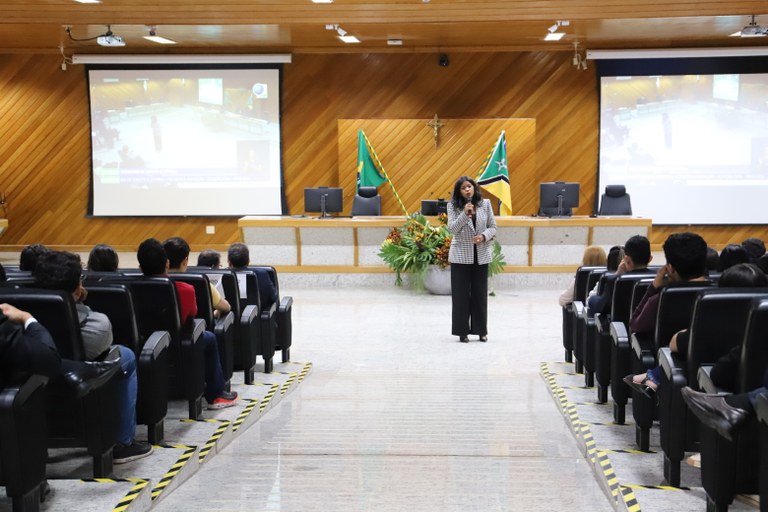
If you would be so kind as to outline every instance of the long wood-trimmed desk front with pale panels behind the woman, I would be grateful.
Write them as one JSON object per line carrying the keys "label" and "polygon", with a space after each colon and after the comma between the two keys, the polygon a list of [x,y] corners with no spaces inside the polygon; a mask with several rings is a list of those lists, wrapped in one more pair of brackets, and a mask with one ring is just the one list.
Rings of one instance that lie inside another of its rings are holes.
{"label": "long wood-trimmed desk front with pale panels behind the woman", "polygon": [[[248,216],[238,225],[251,261],[260,265],[283,272],[378,273],[390,272],[378,256],[381,243],[404,222],[403,216]],[[607,250],[651,234],[651,219],[639,217],[497,217],[496,224],[505,272],[572,272],[588,245]]]}

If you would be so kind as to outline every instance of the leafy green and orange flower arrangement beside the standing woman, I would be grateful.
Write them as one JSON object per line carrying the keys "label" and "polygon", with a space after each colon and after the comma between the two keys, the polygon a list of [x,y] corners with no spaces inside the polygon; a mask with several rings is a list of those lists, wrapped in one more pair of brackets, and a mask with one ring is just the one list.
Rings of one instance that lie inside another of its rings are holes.
{"label": "leafy green and orange flower arrangement beside the standing woman", "polygon": [[448,216],[443,213],[437,219],[439,225],[434,226],[423,215],[414,213],[402,227],[392,228],[381,244],[379,257],[395,271],[397,286],[403,284],[403,272],[413,273],[418,284],[423,283],[430,265],[448,266],[453,236],[446,227]]}

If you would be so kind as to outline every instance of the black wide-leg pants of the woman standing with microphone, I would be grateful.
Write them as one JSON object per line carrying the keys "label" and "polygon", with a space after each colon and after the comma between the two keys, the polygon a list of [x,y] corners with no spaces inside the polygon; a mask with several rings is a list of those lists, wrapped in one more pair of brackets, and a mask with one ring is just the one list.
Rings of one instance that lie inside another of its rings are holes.
{"label": "black wide-leg pants of the woman standing with microphone", "polygon": [[488,334],[488,265],[451,263],[451,333]]}

